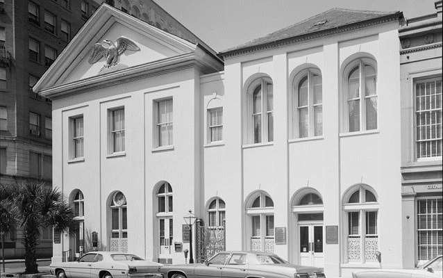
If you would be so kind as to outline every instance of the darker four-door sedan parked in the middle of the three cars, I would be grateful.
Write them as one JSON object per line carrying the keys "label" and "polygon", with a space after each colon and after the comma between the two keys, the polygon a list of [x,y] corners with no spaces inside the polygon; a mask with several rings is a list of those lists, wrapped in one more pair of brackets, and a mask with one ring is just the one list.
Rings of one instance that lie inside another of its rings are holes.
{"label": "darker four-door sedan parked in the middle of the three cars", "polygon": [[293,265],[276,254],[264,252],[220,252],[205,263],[164,265],[165,278],[260,277],[313,278],[326,277],[322,268]]}

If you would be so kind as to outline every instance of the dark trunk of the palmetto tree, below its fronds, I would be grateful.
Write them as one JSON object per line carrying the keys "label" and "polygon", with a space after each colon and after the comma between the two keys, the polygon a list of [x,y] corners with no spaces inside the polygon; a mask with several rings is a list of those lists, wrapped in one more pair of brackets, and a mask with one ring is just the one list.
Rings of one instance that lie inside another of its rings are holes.
{"label": "dark trunk of the palmetto tree, below its fronds", "polygon": [[[32,221],[30,221],[32,222]],[[39,235],[38,225],[26,223],[24,227],[24,264],[26,266],[25,273],[37,273],[37,238]]]}

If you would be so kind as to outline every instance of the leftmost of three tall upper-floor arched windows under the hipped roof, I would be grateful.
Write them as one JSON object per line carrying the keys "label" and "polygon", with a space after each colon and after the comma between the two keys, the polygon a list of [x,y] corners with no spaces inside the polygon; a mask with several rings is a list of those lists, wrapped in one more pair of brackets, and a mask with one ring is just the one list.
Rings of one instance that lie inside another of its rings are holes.
{"label": "leftmost of three tall upper-floor arched windows under the hipped roof", "polygon": [[248,142],[274,141],[274,89],[269,78],[251,83],[248,90]]}

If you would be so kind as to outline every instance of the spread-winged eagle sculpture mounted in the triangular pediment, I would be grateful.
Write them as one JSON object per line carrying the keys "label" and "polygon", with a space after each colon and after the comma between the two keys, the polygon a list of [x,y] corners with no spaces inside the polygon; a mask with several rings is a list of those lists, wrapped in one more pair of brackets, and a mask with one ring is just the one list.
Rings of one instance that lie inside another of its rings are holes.
{"label": "spread-winged eagle sculpture mounted in the triangular pediment", "polygon": [[115,43],[110,40],[103,40],[103,42],[109,44],[109,47],[103,47],[98,42],[94,44],[91,57],[87,60],[90,64],[96,63],[103,56],[106,56],[106,64],[103,67],[110,67],[111,65],[117,65],[118,56],[126,49],[132,51],[140,50],[140,47],[137,47],[135,42],[123,37],[118,38]]}

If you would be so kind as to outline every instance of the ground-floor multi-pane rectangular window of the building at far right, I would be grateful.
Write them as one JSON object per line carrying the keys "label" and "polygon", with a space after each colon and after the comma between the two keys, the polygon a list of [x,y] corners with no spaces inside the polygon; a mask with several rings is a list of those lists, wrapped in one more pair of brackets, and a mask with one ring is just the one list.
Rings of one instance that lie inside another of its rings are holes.
{"label": "ground-floor multi-pane rectangular window of the building at far right", "polygon": [[417,243],[419,261],[427,261],[443,252],[442,199],[417,201]]}

